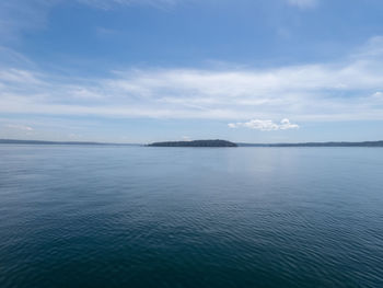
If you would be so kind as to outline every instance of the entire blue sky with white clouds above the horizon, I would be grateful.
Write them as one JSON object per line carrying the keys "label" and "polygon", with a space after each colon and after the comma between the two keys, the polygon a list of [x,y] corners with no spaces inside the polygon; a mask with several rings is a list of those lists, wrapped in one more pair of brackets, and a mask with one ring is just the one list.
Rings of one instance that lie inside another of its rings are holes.
{"label": "entire blue sky with white clouds above the horizon", "polygon": [[0,138],[383,140],[382,0],[1,0]]}

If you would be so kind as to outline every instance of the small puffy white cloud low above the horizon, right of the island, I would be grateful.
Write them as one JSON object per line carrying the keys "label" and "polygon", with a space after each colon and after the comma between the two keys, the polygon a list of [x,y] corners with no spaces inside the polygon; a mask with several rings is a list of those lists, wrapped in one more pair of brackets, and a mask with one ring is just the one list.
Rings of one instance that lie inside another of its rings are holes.
{"label": "small puffy white cloud low above the horizon, right of the island", "polygon": [[260,131],[272,131],[272,130],[287,130],[287,129],[297,129],[299,126],[297,124],[290,123],[289,119],[282,119],[280,124],[276,124],[272,120],[259,120],[253,119],[245,123],[229,123],[230,128],[251,128]]}

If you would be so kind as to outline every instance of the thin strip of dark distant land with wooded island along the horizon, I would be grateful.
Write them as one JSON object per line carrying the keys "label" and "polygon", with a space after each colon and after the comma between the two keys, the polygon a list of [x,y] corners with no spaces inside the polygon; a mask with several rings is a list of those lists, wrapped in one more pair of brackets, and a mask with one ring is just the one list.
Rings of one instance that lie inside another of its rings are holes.
{"label": "thin strip of dark distant land with wooded island along the horizon", "polygon": [[[78,146],[143,146],[138,143],[107,143],[92,141],[44,141],[0,139],[0,145],[78,145]],[[243,143],[225,140],[165,141],[147,145],[148,147],[383,147],[383,140],[362,142],[302,142],[302,143]]]}

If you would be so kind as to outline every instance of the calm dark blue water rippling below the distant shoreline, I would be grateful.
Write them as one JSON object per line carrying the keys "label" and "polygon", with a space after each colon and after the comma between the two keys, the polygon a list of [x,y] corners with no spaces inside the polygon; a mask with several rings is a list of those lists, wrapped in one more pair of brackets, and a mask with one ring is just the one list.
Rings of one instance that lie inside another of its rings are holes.
{"label": "calm dark blue water rippling below the distant shoreline", "polygon": [[0,287],[383,287],[383,149],[1,145]]}

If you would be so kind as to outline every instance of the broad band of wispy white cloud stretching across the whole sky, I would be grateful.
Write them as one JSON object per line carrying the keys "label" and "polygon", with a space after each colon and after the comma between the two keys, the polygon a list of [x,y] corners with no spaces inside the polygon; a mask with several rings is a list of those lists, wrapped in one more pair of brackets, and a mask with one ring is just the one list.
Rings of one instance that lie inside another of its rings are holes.
{"label": "broad band of wispy white cloud stretching across the whole sky", "polygon": [[[104,117],[383,119],[383,37],[337,64],[141,69],[78,79],[0,69],[0,113]],[[374,51],[373,56],[369,49]],[[280,124],[278,124],[280,125]]]}

